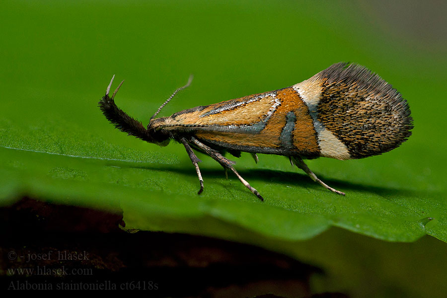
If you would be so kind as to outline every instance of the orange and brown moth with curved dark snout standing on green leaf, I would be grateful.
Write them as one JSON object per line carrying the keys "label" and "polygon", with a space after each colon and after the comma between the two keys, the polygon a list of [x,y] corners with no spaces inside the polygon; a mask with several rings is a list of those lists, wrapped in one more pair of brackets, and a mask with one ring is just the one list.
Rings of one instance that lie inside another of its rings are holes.
{"label": "orange and brown moth with curved dark snout standing on green leaf", "polygon": [[411,135],[413,119],[407,101],[390,84],[367,68],[337,63],[311,78],[284,89],[249,95],[155,118],[188,83],[175,90],[150,118],[148,127],[114,102],[121,84],[109,97],[110,82],[99,101],[104,116],[119,130],[149,143],[166,146],[175,140],[185,147],[200,181],[193,149],[210,155],[232,171],[259,199],[262,196],[234,169],[225,152],[239,157],[249,152],[288,156],[310,178],[337,193],[307,167],[303,159],[364,158],[398,147]]}

